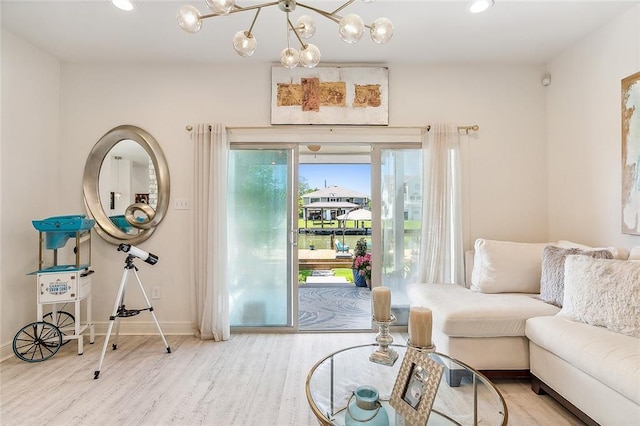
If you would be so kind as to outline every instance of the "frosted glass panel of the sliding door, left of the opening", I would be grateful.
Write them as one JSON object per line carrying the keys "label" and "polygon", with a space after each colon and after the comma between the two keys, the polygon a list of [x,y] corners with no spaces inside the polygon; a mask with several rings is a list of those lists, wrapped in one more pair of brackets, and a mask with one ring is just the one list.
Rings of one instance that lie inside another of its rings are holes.
{"label": "frosted glass panel of the sliding door, left of the opening", "polygon": [[[294,327],[293,148],[232,148],[228,240],[232,327]],[[296,204],[297,205],[297,204]]]}

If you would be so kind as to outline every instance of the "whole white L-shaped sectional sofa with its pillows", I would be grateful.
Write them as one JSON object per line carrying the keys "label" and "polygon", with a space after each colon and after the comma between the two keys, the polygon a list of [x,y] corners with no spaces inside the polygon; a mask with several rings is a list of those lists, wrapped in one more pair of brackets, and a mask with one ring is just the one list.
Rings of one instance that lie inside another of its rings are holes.
{"label": "whole white L-shaped sectional sofa with its pillows", "polygon": [[469,288],[409,286],[411,305],[433,311],[437,351],[489,377],[530,376],[587,424],[640,425],[640,262],[567,241],[474,248]]}

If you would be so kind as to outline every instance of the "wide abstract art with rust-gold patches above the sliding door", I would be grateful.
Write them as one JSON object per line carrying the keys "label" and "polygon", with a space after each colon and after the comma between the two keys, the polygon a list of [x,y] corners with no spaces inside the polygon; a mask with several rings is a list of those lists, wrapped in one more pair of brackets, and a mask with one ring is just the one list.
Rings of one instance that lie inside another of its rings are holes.
{"label": "wide abstract art with rust-gold patches above the sliding door", "polygon": [[271,68],[271,124],[389,124],[385,67]]}

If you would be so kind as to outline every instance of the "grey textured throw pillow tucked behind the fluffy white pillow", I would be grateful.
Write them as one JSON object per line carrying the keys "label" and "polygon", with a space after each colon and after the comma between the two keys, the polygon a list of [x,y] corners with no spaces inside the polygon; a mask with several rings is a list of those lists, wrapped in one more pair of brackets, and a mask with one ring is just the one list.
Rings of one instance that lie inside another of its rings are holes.
{"label": "grey textured throw pillow tucked behind the fluffy white pillow", "polygon": [[540,279],[540,300],[562,308],[564,297],[564,263],[567,256],[582,254],[595,259],[613,259],[609,250],[580,250],[547,246],[542,252],[542,277]]}

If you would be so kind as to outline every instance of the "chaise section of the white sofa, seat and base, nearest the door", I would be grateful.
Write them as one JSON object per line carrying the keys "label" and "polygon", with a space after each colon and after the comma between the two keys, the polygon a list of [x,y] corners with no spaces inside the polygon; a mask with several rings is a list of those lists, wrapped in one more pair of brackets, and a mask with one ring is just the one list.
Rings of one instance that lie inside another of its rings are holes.
{"label": "chaise section of the white sofa, seat and base, nearest the door", "polygon": [[412,306],[431,309],[432,339],[438,352],[489,377],[527,376],[527,319],[560,311],[536,295],[476,293],[455,284],[413,284],[409,300]]}

